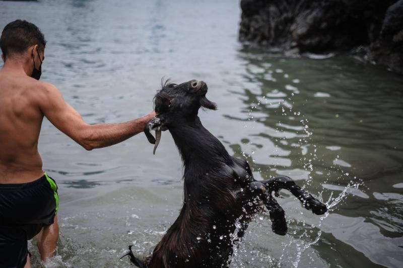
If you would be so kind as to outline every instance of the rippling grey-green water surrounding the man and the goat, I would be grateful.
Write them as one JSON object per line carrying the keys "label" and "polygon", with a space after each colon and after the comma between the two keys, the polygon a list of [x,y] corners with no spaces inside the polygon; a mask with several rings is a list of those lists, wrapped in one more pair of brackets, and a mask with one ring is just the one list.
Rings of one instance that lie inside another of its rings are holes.
{"label": "rippling grey-green water surrounding the man and the goat", "polygon": [[[200,118],[230,154],[258,180],[289,175],[327,202],[329,214],[316,216],[281,192],[288,234],[257,215],[232,267],[402,267],[403,76],[347,56],[245,48],[238,6],[0,2],[0,28],[18,18],[41,28],[41,79],[91,124],[148,113],[163,76],[206,81],[219,110]],[[182,168],[169,133],[156,155],[144,134],[87,152],[45,120],[39,150],[60,196],[60,242],[47,267],[130,267],[119,260],[127,246],[147,255],[179,213]]]}

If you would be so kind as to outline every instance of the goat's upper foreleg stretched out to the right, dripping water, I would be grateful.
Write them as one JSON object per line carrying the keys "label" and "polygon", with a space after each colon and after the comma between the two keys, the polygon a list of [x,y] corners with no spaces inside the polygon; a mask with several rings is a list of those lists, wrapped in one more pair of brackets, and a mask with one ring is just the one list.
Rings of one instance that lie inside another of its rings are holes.
{"label": "goat's upper foreleg stretched out to the right, dripping water", "polygon": [[272,180],[261,181],[261,183],[266,187],[268,195],[271,195],[272,191],[277,193],[280,189],[286,189],[298,198],[307,210],[312,210],[314,214],[322,215],[327,211],[326,205],[314,198],[307,191],[302,190],[290,177],[279,176]]}

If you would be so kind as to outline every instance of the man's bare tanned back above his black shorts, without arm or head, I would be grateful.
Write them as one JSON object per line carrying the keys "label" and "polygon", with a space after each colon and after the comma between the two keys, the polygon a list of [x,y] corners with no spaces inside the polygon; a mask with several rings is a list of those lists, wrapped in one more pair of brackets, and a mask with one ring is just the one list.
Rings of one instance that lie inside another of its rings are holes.
{"label": "man's bare tanned back above his black shorts, without arm or head", "polygon": [[31,182],[43,175],[38,138],[43,82],[0,70],[0,184]]}

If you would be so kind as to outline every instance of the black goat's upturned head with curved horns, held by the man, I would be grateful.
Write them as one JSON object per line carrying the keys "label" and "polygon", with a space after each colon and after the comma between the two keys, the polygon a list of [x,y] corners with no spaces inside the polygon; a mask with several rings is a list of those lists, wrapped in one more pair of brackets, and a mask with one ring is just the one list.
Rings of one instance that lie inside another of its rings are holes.
{"label": "black goat's upturned head with curved horns, held by the man", "polygon": [[[200,107],[216,110],[215,103],[206,98],[208,87],[204,81],[190,80],[181,84],[162,83],[162,89],[154,97],[156,116],[144,128],[150,143],[155,150],[161,139],[161,128],[169,129],[174,124],[194,121]],[[154,130],[156,137],[150,133]]]}

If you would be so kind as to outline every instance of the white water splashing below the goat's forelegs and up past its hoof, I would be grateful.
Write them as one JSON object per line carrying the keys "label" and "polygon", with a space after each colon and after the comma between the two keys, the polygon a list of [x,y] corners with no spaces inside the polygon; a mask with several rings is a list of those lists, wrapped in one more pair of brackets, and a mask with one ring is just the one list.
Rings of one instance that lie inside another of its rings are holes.
{"label": "white water splashing below the goat's forelegs and up past its hoof", "polygon": [[[307,225],[304,220],[290,219],[288,221],[290,229],[298,227],[299,224],[301,224],[302,229],[297,228],[294,230],[294,232],[291,231],[290,234],[286,236],[289,241],[281,243],[281,247],[279,247],[280,257],[276,257],[276,253],[267,252],[263,248],[256,248],[256,241],[248,242],[251,236],[252,238],[253,236],[256,238],[261,236],[261,228],[267,228],[267,226],[265,226],[267,225],[267,212],[257,215],[255,219],[249,223],[249,227],[242,239],[237,236],[238,231],[242,226],[240,223],[241,217],[238,218],[235,222],[235,231],[230,236],[231,243],[233,245],[233,256],[230,258],[231,267],[245,268],[253,264],[257,264],[258,266],[256,267],[260,267],[261,263],[265,263],[264,267],[291,266],[298,268],[301,265],[300,262],[302,257],[305,259],[310,258],[308,261],[314,260],[310,255],[310,252],[305,254],[304,252],[309,251],[312,245],[316,244],[320,240],[322,231],[319,228],[322,222],[329,216],[331,211],[333,211],[340,202],[345,201],[348,198],[350,189],[358,189],[360,185],[361,184],[359,183],[348,184],[344,191],[342,191],[338,196],[333,197],[334,194],[331,193],[327,202],[323,202],[322,193],[320,193],[318,199],[326,204],[328,212],[319,217],[318,222],[315,224]],[[302,211],[301,214],[303,214]],[[300,234],[298,234],[299,231],[301,231]],[[308,264],[304,262],[302,265],[304,266]]]}

